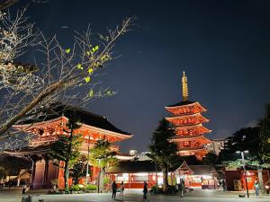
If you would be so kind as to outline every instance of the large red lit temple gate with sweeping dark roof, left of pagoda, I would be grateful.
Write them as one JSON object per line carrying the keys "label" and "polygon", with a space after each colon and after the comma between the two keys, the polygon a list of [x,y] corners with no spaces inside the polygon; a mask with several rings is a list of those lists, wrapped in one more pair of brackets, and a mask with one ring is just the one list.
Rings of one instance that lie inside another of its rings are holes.
{"label": "large red lit temple gate with sweeping dark roof, left of pagoda", "polygon": [[[58,187],[64,188],[64,171],[53,164],[49,159],[51,144],[54,143],[58,136],[67,135],[67,121],[70,116],[75,116],[80,122],[81,127],[74,131],[74,134],[83,136],[84,142],[80,148],[81,153],[87,154],[88,146],[91,148],[98,139],[106,139],[112,143],[112,150],[116,152],[116,157],[120,159],[129,159],[129,155],[120,154],[119,147],[113,145],[125,139],[129,139],[130,133],[121,131],[114,127],[108,119],[90,113],[85,110],[71,106],[55,105],[46,113],[39,115],[34,119],[25,119],[14,125],[16,130],[21,130],[28,134],[36,136],[31,140],[30,145],[19,151],[5,151],[6,154],[23,156],[31,159],[31,187],[33,189],[51,188],[51,180],[58,179]],[[99,169],[91,166],[90,181],[97,179]],[[71,182],[71,179],[70,179]]]}

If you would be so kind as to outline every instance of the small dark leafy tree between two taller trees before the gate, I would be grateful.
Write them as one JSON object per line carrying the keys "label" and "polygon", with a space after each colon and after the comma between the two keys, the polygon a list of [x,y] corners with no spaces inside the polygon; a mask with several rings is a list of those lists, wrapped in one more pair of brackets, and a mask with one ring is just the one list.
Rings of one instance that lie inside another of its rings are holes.
{"label": "small dark leafy tree between two taller trees before the gate", "polygon": [[81,155],[77,161],[74,163],[71,171],[70,177],[72,177],[75,184],[78,184],[78,181],[85,177],[86,175],[86,157]]}

